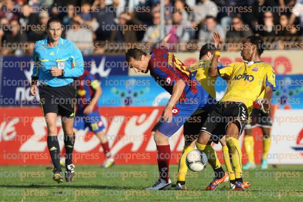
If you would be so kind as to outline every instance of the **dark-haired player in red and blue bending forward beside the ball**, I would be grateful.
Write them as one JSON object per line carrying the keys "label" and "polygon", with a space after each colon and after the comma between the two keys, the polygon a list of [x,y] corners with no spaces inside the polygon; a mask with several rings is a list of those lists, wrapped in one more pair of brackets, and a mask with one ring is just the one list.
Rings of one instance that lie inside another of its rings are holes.
{"label": "dark-haired player in red and blue bending forward beside the ball", "polygon": [[169,179],[170,146],[168,138],[172,136],[187,119],[198,109],[213,108],[213,98],[196,81],[195,76],[186,70],[185,65],[168,50],[166,43],[170,35],[164,37],[161,45],[152,53],[146,54],[134,48],[126,53],[129,68],[147,73],[171,94],[162,116],[153,128],[158,150],[158,168],[160,178],[147,190],[171,188]]}

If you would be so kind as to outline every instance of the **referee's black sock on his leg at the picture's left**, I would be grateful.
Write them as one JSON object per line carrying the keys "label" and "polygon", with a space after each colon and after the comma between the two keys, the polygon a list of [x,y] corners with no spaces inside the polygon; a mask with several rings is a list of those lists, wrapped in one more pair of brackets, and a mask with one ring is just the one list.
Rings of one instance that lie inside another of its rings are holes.
{"label": "referee's black sock on his leg at the picture's left", "polygon": [[60,146],[57,136],[47,136],[47,146],[55,170],[62,171],[60,166]]}

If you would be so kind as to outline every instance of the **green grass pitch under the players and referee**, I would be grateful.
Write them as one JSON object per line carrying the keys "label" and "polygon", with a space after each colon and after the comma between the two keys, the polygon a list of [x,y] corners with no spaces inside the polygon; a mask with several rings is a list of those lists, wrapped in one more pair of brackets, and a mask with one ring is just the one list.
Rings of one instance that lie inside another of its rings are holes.
{"label": "green grass pitch under the players and referee", "polygon": [[[171,172],[176,169],[170,166]],[[228,183],[203,191],[212,180],[210,166],[188,172],[188,191],[144,191],[157,180],[157,165],[77,166],[75,171],[74,182],[57,184],[46,166],[2,166],[0,201],[303,201],[303,166],[244,172],[253,184],[244,192],[230,191]],[[171,180],[174,184],[176,176]]]}

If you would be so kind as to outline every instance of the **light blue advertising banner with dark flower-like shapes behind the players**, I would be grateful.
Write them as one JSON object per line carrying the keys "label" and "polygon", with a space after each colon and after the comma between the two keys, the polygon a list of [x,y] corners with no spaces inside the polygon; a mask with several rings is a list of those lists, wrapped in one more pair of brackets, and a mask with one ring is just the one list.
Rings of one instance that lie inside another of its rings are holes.
{"label": "light blue advertising banner with dark flower-like shapes behind the players", "polygon": [[[111,76],[101,80],[103,96],[98,105],[110,106],[165,106],[170,97],[152,77]],[[215,82],[216,98],[225,94],[226,81]],[[272,104],[280,109],[303,109],[303,76],[276,75],[276,89]]]}

